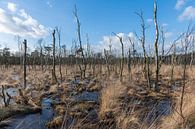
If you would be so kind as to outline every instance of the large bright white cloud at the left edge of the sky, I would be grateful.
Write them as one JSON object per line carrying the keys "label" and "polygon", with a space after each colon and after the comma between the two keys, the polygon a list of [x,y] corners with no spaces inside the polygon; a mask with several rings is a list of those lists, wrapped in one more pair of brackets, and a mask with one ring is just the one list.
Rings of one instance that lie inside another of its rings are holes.
{"label": "large bright white cloud at the left edge of the sky", "polygon": [[48,31],[49,28],[40,24],[24,9],[10,13],[0,8],[0,32],[2,33],[38,38],[46,36]]}

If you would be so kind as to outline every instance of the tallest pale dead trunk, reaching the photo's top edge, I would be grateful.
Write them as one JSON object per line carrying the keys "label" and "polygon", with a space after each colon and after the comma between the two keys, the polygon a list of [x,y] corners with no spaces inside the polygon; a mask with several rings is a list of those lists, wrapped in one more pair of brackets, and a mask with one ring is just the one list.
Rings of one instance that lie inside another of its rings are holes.
{"label": "tallest pale dead trunk, reaching the photo's top edge", "polygon": [[154,2],[154,25],[156,29],[156,38],[154,42],[155,47],[155,64],[156,64],[156,79],[155,79],[155,91],[159,91],[158,86],[158,75],[159,75],[159,58],[158,58],[158,39],[159,39],[159,30],[158,30],[158,22],[157,22],[157,5],[156,1]]}

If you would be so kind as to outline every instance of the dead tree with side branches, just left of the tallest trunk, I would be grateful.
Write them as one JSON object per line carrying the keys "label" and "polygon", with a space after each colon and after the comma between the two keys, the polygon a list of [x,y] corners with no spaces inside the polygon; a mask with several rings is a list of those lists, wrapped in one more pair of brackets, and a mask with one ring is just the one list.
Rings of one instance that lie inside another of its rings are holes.
{"label": "dead tree with side branches, just left of the tallest trunk", "polygon": [[148,85],[148,88],[151,88],[151,84],[150,84],[150,61],[149,61],[149,57],[148,57],[148,54],[146,52],[146,48],[145,48],[145,39],[146,39],[146,36],[145,36],[145,33],[146,33],[146,25],[145,25],[145,21],[144,21],[144,18],[143,18],[143,12],[141,11],[141,13],[136,13],[140,19],[141,19],[141,30],[142,30],[142,36],[141,38],[139,38],[137,36],[137,38],[139,39],[139,41],[141,42],[142,44],[142,49],[143,49],[143,53],[144,53],[144,77],[145,79],[147,80],[147,85]]}

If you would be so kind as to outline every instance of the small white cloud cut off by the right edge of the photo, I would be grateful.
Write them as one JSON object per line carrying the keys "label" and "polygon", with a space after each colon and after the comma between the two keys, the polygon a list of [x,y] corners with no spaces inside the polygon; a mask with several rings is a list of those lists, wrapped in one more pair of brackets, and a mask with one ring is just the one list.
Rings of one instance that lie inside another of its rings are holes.
{"label": "small white cloud cut off by the right edge of the photo", "polygon": [[186,7],[183,13],[179,16],[179,20],[195,20],[195,8],[192,6]]}

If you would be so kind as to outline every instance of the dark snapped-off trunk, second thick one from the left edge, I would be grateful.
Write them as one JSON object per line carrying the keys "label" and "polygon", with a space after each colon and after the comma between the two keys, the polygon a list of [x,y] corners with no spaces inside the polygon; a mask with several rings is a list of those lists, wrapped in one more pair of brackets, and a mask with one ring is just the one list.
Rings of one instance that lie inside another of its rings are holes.
{"label": "dark snapped-off trunk, second thick one from the left edge", "polygon": [[55,61],[55,30],[52,33],[53,36],[53,68],[52,68],[52,83],[56,84],[57,83],[57,78],[56,78],[56,61]]}

